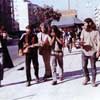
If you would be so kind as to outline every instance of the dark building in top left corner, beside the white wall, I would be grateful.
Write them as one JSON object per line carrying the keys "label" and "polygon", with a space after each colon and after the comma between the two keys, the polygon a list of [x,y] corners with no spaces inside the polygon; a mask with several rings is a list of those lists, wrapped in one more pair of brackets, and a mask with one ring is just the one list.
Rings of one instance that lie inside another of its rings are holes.
{"label": "dark building in top left corner, beside the white wall", "polygon": [[12,2],[12,0],[0,0],[0,24],[9,32],[13,30]]}

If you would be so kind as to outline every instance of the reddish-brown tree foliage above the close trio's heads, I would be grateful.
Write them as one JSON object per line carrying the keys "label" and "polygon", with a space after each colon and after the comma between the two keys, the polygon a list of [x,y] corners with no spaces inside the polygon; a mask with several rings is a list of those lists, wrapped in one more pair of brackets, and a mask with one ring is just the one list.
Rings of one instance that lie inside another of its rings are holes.
{"label": "reddish-brown tree foliage above the close trio's heads", "polygon": [[54,11],[53,7],[47,5],[44,7],[36,7],[33,13],[39,20],[39,23],[45,22],[47,24],[51,24],[53,20],[59,21],[61,17],[61,13]]}

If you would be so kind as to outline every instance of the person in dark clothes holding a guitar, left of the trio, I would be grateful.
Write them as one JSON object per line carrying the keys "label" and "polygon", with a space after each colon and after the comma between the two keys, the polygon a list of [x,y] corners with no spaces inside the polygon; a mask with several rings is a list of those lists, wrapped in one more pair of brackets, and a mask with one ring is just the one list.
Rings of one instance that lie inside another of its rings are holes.
{"label": "person in dark clothes holding a guitar, left of the trio", "polygon": [[[36,82],[39,82],[39,64],[38,64],[38,38],[37,35],[32,33],[30,25],[26,27],[26,33],[22,35],[19,40],[19,51],[25,55],[26,65],[26,78],[27,86],[31,85],[31,61],[34,67],[34,74],[36,76]],[[21,55],[22,55],[21,54]]]}

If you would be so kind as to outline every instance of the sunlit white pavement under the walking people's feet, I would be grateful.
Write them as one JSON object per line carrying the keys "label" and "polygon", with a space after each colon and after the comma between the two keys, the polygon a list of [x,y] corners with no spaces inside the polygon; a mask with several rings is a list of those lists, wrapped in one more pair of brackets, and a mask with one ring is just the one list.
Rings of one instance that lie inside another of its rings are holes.
{"label": "sunlit white pavement under the walking people's feet", "polygon": [[[26,87],[25,69],[18,70],[25,66],[23,63],[4,73],[4,80],[0,88],[0,100],[99,100],[100,97],[100,61],[97,61],[97,87],[82,85],[84,79],[82,73],[80,49],[73,49],[71,54],[64,49],[64,80],[58,79],[58,84],[52,86],[52,79],[42,81],[44,75],[44,64],[39,56],[39,76],[41,82],[35,82],[34,70],[32,68],[32,85]],[[88,65],[90,68],[90,63]],[[59,66],[57,67],[59,71]],[[91,71],[91,70],[90,70]],[[90,73],[91,74],[91,73]]]}

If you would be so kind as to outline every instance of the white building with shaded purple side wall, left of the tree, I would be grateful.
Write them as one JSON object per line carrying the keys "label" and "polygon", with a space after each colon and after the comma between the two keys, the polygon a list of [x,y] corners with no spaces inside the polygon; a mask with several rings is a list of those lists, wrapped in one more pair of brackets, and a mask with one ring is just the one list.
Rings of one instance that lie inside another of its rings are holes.
{"label": "white building with shaded purple side wall, left of the tree", "polygon": [[14,27],[16,30],[23,31],[28,24],[34,22],[34,9],[38,7],[28,0],[13,0],[14,4]]}

